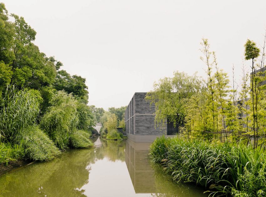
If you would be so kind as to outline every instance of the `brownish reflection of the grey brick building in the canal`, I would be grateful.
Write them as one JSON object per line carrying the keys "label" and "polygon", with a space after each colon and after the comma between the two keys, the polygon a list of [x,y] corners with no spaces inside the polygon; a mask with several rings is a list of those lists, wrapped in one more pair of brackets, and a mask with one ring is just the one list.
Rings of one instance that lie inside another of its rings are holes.
{"label": "brownish reflection of the grey brick building in the canal", "polygon": [[156,193],[154,170],[147,158],[149,146],[126,140],[125,163],[136,193]]}

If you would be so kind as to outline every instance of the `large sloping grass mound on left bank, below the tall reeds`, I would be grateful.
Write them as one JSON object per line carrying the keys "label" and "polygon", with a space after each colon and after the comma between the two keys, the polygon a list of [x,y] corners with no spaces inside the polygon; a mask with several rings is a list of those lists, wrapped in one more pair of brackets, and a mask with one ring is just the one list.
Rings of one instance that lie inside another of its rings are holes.
{"label": "large sloping grass mound on left bank, below the tall reeds", "polygon": [[51,160],[60,154],[54,142],[37,125],[23,130],[21,144],[25,150],[25,159]]}

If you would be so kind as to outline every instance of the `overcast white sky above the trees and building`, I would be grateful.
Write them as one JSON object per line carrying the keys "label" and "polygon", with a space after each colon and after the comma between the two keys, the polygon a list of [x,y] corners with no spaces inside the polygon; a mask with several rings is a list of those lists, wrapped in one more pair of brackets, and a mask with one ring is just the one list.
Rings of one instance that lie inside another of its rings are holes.
{"label": "overcast white sky above the trees and building", "polygon": [[86,78],[89,105],[120,107],[154,81],[184,71],[205,76],[201,38],[240,79],[247,38],[262,43],[266,0],[4,0],[37,31],[35,44]]}

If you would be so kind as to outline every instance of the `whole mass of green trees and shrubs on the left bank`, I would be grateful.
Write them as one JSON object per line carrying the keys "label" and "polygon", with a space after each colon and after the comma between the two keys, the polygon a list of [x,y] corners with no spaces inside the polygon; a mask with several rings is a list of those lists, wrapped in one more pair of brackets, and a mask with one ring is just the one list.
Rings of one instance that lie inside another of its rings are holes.
{"label": "whole mass of green trees and shrubs on the left bank", "polygon": [[35,36],[23,17],[0,3],[0,164],[52,159],[77,129],[87,132],[75,132],[77,146],[91,145],[95,120],[85,78],[59,70],[63,64],[40,52]]}

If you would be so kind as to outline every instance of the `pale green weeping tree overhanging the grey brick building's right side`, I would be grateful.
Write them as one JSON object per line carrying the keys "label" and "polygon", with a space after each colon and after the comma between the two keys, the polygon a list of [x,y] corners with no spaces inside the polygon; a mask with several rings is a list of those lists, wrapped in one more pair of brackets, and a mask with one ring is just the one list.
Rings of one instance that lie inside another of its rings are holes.
{"label": "pale green weeping tree overhanging the grey brick building's right side", "polygon": [[153,90],[146,95],[146,100],[155,104],[157,126],[163,126],[166,117],[174,124],[183,124],[188,99],[196,91],[198,80],[196,75],[188,76],[184,72],[175,72],[173,78],[162,78],[154,83]]}

